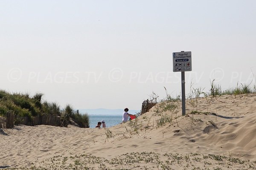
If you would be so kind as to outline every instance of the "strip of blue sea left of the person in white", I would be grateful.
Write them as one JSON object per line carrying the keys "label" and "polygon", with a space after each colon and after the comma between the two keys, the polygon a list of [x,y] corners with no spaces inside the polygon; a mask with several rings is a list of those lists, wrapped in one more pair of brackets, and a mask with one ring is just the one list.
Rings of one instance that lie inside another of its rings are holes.
{"label": "strip of blue sea left of the person in white", "polygon": [[113,127],[122,122],[122,115],[120,116],[107,116],[107,115],[89,115],[90,128],[95,128],[98,122],[105,121],[106,127]]}

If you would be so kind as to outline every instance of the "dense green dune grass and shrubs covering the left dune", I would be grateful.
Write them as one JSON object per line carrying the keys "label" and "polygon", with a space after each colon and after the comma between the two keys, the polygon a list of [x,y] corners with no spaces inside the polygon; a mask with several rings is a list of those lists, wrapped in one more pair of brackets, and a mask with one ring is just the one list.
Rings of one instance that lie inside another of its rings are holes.
{"label": "dense green dune grass and shrubs covering the left dune", "polygon": [[28,93],[9,93],[0,90],[0,116],[11,111],[15,114],[15,125],[22,124],[22,117],[32,120],[35,116],[54,115],[66,122],[62,126],[75,122],[79,127],[89,127],[89,116],[73,110],[72,106],[66,105],[63,110],[56,102],[42,101],[42,93],[30,96]]}

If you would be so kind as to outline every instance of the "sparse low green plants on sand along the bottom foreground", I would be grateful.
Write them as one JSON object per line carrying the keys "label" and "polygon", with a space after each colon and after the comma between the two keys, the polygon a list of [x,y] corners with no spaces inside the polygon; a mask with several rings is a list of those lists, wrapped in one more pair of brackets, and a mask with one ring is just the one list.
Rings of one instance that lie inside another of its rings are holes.
{"label": "sparse low green plants on sand along the bottom foreground", "polygon": [[234,158],[230,155],[203,155],[200,153],[132,152],[112,159],[91,154],[54,156],[29,167],[9,167],[9,170],[223,170],[255,169],[256,161]]}

